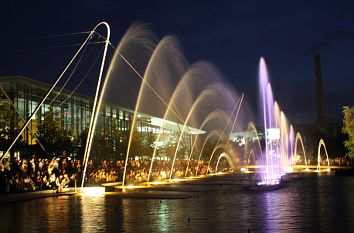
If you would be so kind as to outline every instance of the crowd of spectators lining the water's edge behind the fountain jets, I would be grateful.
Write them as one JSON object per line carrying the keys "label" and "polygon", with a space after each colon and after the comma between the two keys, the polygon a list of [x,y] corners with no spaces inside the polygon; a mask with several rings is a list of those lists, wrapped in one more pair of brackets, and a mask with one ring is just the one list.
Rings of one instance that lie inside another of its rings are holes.
{"label": "crowd of spectators lining the water's edge behind the fountain jets", "polygon": [[[146,182],[151,160],[128,160],[126,184]],[[172,161],[154,161],[149,181],[170,178]],[[90,160],[87,165],[85,184],[97,185],[123,180],[124,160]],[[188,170],[186,160],[176,160],[173,177],[202,175],[207,173],[208,161],[191,161]],[[209,172],[213,172],[210,167]],[[63,188],[81,184],[83,165],[70,157],[42,159],[4,159],[0,162],[0,193],[15,193],[35,190],[61,192]]]}

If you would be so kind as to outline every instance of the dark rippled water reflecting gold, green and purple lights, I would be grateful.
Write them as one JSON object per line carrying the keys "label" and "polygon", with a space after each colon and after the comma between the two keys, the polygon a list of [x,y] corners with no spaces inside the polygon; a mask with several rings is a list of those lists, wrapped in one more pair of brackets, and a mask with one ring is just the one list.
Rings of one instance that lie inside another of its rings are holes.
{"label": "dark rippled water reflecting gold, green and purple lights", "polygon": [[0,232],[354,232],[354,177],[275,191],[215,187],[190,199],[53,197],[0,205]]}

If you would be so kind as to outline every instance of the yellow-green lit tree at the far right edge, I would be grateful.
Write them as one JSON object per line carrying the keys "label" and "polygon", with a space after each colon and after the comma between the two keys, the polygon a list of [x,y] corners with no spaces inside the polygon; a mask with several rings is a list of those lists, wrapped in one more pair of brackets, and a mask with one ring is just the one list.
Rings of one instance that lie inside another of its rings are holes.
{"label": "yellow-green lit tree at the far right edge", "polygon": [[344,146],[348,150],[347,155],[354,158],[354,106],[343,107],[342,132],[348,135],[348,140],[344,141]]}

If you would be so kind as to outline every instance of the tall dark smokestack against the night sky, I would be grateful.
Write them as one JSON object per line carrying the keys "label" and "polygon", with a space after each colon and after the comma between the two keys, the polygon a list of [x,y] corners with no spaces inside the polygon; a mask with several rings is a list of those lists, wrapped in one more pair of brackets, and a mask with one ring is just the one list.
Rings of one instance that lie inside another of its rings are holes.
{"label": "tall dark smokestack against the night sky", "polygon": [[326,120],[323,112],[323,90],[322,90],[322,72],[321,72],[321,57],[315,55],[315,78],[316,78],[316,103],[317,103],[317,128],[324,130]]}

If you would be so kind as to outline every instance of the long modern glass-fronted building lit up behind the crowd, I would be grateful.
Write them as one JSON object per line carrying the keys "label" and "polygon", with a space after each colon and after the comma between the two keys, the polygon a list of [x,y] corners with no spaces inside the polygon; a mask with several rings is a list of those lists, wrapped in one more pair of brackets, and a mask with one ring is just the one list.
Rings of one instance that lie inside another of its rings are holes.
{"label": "long modern glass-fronted building lit up behind the crowd", "polygon": [[[11,132],[16,132],[29,119],[51,86],[28,77],[9,76],[0,77],[0,87],[0,124]],[[54,114],[59,127],[69,130],[73,138],[79,137],[89,127],[92,106],[93,97],[56,88],[21,135],[24,144],[28,146],[37,144],[34,134],[38,131],[38,125],[48,114]],[[112,132],[115,130],[113,127],[120,131],[130,131],[133,113],[130,109],[104,103],[101,107],[96,132]],[[141,133],[158,134],[162,129],[165,138],[180,132],[182,128],[176,122],[144,113],[138,114],[136,125],[137,131]],[[5,128],[0,130],[5,130]],[[202,130],[188,127],[184,140],[188,141],[190,145],[194,134],[203,133],[205,132]],[[108,133],[109,135],[110,133]]]}

